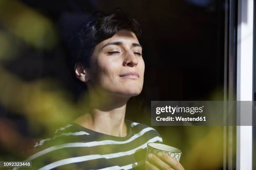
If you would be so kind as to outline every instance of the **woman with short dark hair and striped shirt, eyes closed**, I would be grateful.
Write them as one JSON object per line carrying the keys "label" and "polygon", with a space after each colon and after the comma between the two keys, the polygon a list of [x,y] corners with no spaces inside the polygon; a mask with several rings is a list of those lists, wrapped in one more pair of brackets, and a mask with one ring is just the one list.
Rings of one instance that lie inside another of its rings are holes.
{"label": "woman with short dark hair and striped shirt, eyes closed", "polygon": [[147,143],[162,138],[154,128],[125,120],[127,101],[143,86],[140,35],[137,21],[123,12],[94,18],[74,35],[74,72],[88,88],[90,109],[35,145],[41,151],[27,159],[33,168],[183,169],[165,154],[149,154],[145,161]]}

